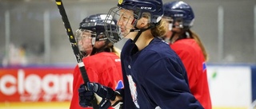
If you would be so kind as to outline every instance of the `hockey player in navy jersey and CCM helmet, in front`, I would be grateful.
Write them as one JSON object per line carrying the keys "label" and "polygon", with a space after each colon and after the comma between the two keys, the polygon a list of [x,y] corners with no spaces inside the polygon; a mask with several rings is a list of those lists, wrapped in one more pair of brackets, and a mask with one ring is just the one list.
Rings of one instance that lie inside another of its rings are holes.
{"label": "hockey player in navy jersey and CCM helmet, in front", "polygon": [[99,106],[105,109],[122,101],[125,109],[201,109],[190,93],[182,60],[158,38],[166,33],[162,0],[119,0],[110,14],[120,15],[122,37],[130,38],[121,54],[125,88],[113,91],[87,83],[90,91],[102,97]]}

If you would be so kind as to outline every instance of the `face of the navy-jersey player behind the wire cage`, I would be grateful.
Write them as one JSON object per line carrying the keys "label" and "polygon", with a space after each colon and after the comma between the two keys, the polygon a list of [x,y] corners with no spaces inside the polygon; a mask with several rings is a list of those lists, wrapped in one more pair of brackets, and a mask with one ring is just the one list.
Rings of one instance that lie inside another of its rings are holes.
{"label": "face of the navy-jersey player behind the wire cage", "polygon": [[121,29],[122,36],[126,37],[130,33],[130,29],[134,29],[134,12],[132,10],[119,10],[120,18],[118,26]]}

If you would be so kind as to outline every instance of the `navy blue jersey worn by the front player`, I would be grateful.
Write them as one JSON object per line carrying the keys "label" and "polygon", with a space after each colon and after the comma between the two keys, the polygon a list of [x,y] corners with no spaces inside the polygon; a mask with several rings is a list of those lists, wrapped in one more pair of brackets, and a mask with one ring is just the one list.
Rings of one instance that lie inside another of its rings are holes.
{"label": "navy blue jersey worn by the front player", "polygon": [[128,40],[121,59],[125,109],[202,108],[190,93],[182,60],[166,42],[156,37],[138,51],[132,40]]}

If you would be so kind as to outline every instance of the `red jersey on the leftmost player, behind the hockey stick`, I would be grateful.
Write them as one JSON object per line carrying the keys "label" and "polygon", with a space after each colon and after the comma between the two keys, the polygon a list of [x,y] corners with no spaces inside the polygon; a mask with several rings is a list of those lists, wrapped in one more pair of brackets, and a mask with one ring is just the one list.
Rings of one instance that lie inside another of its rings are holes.
{"label": "red jersey on the leftmost player, behind the hockey stick", "polygon": [[[123,88],[120,58],[114,53],[97,53],[82,59],[90,82],[97,82],[114,90]],[[84,84],[78,65],[74,69],[73,97],[70,109],[91,109],[80,107],[78,88]],[[111,107],[110,107],[111,108]]]}

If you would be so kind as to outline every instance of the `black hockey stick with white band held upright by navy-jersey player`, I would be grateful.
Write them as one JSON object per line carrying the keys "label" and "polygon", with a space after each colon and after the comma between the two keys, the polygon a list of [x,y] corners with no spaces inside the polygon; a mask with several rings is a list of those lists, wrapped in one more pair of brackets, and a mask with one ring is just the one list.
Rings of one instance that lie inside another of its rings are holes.
{"label": "black hockey stick with white band held upright by navy-jersey player", "polygon": [[[74,56],[77,59],[78,68],[80,69],[80,72],[82,74],[82,80],[86,84],[90,80],[89,80],[87,72],[86,72],[85,64],[83,64],[83,62],[82,62],[82,56],[79,53],[77,42],[74,39],[74,33],[73,33],[72,29],[71,29],[70,21],[67,18],[66,11],[65,11],[65,8],[63,6],[62,0],[55,0],[55,1],[56,1],[57,6],[58,6],[59,13],[62,16],[62,21],[63,21],[63,24],[65,26],[66,33],[67,33],[67,35],[68,35],[68,37],[70,39],[70,45],[71,45],[71,47],[73,49]],[[97,104],[96,99],[94,99],[92,101],[92,104],[93,104],[93,108],[94,109],[98,109],[98,104]]]}

